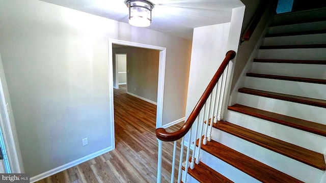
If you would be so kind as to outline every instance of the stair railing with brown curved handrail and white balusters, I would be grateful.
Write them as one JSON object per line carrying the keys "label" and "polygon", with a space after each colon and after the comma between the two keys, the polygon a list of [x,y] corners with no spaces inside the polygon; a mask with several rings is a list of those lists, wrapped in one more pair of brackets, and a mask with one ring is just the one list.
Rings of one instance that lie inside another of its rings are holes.
{"label": "stair railing with brown curved handrail and white balusters", "polygon": [[[233,50],[230,50],[226,53],[226,56],[218,71],[216,71],[203,95],[197,102],[195,108],[178,131],[167,132],[164,128],[156,129],[155,133],[158,140],[157,182],[161,182],[162,176],[162,141],[174,141],[171,183],[174,182],[175,179],[175,170],[178,171],[176,174],[177,182],[180,183],[181,179],[183,182],[186,182],[188,167],[194,169],[195,163],[199,164],[201,157],[201,145],[206,144],[207,141],[211,140],[211,131],[213,124],[211,122],[214,121],[214,123],[216,123],[217,120],[221,119],[223,99],[226,92],[228,66],[230,60],[235,57],[235,54],[236,53]],[[185,140],[185,138],[187,138],[187,140]],[[179,163],[177,163],[177,141],[180,139],[180,157]],[[186,147],[186,151],[184,150],[184,147]],[[191,151],[192,157],[189,162]],[[183,161],[185,163],[182,163]],[[182,173],[182,169],[184,169],[184,173]]]}

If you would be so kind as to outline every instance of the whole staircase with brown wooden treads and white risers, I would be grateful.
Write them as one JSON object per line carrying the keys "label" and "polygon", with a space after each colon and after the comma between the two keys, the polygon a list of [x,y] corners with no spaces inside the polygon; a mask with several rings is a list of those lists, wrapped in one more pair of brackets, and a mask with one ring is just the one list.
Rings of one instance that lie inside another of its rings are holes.
{"label": "whole staircase with brown wooden treads and white risers", "polygon": [[326,10],[276,15],[266,32],[188,182],[326,182]]}

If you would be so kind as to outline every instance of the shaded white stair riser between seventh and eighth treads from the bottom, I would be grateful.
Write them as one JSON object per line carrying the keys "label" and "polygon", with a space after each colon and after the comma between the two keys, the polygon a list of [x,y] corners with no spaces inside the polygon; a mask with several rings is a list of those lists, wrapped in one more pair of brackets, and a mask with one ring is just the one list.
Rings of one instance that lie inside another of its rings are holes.
{"label": "shaded white stair riser between seventh and eighth treads from the bottom", "polygon": [[325,60],[326,48],[309,49],[261,49],[258,58]]}

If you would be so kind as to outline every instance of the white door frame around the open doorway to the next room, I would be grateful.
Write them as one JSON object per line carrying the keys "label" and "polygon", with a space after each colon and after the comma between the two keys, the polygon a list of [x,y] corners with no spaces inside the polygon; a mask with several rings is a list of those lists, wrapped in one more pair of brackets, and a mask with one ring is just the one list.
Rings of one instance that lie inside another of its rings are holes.
{"label": "white door frame around the open doorway to the next room", "polygon": [[[108,39],[108,61],[109,61],[109,82],[113,83],[113,51],[112,44],[120,44],[126,46],[134,46],[148,49],[159,50],[159,61],[158,61],[158,82],[157,82],[157,108],[156,108],[156,128],[162,127],[162,113],[163,113],[163,99],[164,99],[164,81],[165,81],[165,63],[166,63],[166,47],[147,45],[142,43],[135,43],[129,41],[122,41],[116,39]],[[112,121],[112,133],[114,144],[114,104],[113,104],[113,84],[109,87],[109,98],[110,98],[110,114]]]}

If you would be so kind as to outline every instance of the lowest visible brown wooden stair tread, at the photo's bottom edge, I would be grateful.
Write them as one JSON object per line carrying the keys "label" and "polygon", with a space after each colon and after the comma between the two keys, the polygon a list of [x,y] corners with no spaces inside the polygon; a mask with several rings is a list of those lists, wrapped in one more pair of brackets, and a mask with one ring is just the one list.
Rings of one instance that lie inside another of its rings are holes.
{"label": "lowest visible brown wooden stair tread, at the photo's bottom edge", "polygon": [[[182,167],[184,170],[184,167]],[[232,180],[228,179],[219,172],[216,172],[209,166],[205,165],[203,162],[200,162],[198,165],[195,165],[195,168],[192,170],[188,168],[188,174],[194,177],[199,182],[207,183],[216,183],[216,182],[225,182],[233,183]]]}

